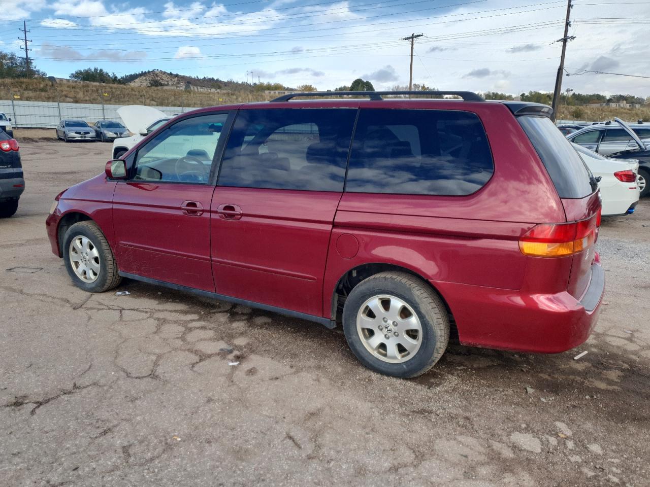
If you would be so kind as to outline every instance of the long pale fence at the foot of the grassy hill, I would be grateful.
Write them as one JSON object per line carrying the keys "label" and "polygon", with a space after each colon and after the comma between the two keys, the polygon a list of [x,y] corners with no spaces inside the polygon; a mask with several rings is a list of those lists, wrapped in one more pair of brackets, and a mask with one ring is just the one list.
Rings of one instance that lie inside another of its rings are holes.
{"label": "long pale fence at the foot of the grassy hill", "polygon": [[[117,114],[120,106],[123,105],[0,100],[0,112],[4,112],[12,119],[13,127],[21,129],[53,129],[66,118],[85,120],[90,123],[98,120],[120,121],[120,116]],[[194,110],[187,106],[154,106],[153,108],[158,108],[166,115],[177,115]]]}

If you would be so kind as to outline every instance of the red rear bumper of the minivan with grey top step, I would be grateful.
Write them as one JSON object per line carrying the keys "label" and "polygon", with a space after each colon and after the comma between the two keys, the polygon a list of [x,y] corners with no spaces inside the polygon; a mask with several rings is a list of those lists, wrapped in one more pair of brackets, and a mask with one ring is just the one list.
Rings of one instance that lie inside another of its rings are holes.
{"label": "red rear bumper of the minivan with grey top step", "polygon": [[580,299],[568,292],[520,291],[432,282],[456,319],[463,345],[559,353],[584,343],[595,326],[604,293],[604,271],[591,266],[590,284]]}

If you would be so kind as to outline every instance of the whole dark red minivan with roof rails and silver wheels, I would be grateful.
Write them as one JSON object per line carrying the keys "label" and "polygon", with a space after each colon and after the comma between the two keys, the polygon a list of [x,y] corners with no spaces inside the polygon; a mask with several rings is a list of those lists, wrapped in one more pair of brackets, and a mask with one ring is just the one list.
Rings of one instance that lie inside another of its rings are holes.
{"label": "whole dark red minivan with roof rails and silver wheels", "polygon": [[583,343],[604,291],[601,203],[551,108],[405,94],[177,116],[57,196],[52,251],[89,292],[127,277],[340,323],[361,363],[396,377],[431,368],[451,323],[466,345]]}

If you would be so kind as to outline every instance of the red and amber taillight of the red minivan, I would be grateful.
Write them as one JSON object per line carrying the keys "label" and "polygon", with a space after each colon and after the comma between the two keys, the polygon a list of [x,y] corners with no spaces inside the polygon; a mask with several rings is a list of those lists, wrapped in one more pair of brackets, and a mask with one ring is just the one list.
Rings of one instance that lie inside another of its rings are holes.
{"label": "red and amber taillight of the red minivan", "polygon": [[540,223],[519,239],[523,255],[563,257],[588,249],[596,241],[600,212],[571,223]]}

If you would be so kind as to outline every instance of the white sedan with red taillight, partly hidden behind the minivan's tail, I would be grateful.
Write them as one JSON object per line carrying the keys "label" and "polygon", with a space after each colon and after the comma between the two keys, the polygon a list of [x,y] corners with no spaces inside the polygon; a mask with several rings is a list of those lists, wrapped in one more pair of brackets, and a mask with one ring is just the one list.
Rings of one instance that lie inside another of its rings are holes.
{"label": "white sedan with red taillight, partly hidden behind the minivan's tail", "polygon": [[634,212],[640,189],[636,185],[639,162],[634,159],[608,159],[582,145],[571,144],[598,180],[603,198],[603,216]]}

